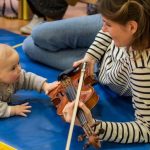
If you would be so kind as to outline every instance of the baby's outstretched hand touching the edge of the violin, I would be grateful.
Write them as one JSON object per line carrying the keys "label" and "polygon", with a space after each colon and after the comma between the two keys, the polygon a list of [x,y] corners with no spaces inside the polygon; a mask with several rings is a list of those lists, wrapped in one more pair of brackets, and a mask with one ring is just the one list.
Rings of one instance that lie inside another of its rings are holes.
{"label": "baby's outstretched hand touching the edge of the violin", "polygon": [[55,81],[55,82],[52,82],[52,83],[45,82],[43,84],[43,91],[45,92],[45,94],[48,94],[51,90],[56,88],[59,84],[60,84],[60,82],[58,82],[58,81]]}

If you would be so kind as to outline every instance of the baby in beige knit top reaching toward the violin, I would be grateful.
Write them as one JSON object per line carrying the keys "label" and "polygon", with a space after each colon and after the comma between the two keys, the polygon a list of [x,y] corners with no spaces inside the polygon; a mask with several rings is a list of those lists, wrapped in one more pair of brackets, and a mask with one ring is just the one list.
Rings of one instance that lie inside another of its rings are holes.
{"label": "baby in beige knit top reaching toward the violin", "polygon": [[44,91],[46,94],[59,82],[47,83],[46,79],[31,72],[25,72],[19,64],[19,55],[12,47],[0,44],[0,118],[31,112],[29,103],[10,106],[11,96],[19,89]]}

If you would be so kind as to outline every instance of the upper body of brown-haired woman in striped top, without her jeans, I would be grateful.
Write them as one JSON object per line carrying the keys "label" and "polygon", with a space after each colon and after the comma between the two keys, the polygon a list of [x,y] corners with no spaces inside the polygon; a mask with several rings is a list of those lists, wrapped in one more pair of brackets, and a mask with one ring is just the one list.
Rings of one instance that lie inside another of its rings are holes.
{"label": "upper body of brown-haired woman in striped top, without her jeans", "polygon": [[[99,0],[103,27],[85,57],[74,63],[88,62],[90,73],[100,62],[99,82],[108,85],[120,95],[132,96],[135,121],[98,121],[94,127],[101,140],[118,143],[150,142],[150,1]],[[74,103],[63,110],[70,122]],[[89,120],[95,123],[90,110],[79,103]],[[100,129],[104,133],[99,134]]]}

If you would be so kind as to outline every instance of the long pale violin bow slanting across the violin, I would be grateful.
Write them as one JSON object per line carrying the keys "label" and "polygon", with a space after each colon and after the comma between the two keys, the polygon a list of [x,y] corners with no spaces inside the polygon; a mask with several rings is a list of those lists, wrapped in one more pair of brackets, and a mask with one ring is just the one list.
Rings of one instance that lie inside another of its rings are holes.
{"label": "long pale violin bow slanting across the violin", "polygon": [[65,150],[69,150],[70,149],[72,132],[73,132],[75,118],[76,118],[76,114],[77,114],[77,109],[78,109],[78,104],[79,104],[80,93],[81,93],[81,88],[82,88],[82,83],[83,83],[83,79],[84,79],[86,65],[87,65],[87,63],[84,62],[83,66],[82,66],[82,69],[81,69],[81,75],[80,75],[80,80],[79,80],[79,84],[78,84],[77,94],[76,94],[76,98],[75,98],[75,104],[74,104],[74,109],[73,109],[73,114],[72,114],[72,119],[71,119],[71,124],[70,124],[70,128],[69,128],[68,139],[67,139],[66,149]]}

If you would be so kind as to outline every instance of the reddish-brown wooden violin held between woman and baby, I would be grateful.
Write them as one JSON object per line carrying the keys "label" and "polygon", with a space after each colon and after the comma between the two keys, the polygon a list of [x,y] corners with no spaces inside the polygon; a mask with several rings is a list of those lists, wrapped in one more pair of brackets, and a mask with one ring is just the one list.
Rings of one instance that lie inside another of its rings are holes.
{"label": "reddish-brown wooden violin held between woman and baby", "polygon": [[[77,94],[77,87],[79,84],[79,77],[81,75],[81,66],[76,68],[68,69],[62,72],[58,76],[58,81],[60,84],[58,87],[53,89],[48,96],[51,98],[54,106],[57,109],[57,114],[63,117],[63,109],[68,102],[75,100]],[[86,70],[84,75],[84,80],[81,87],[80,98],[79,100],[85,103],[85,105],[92,109],[98,102],[99,97],[96,94],[92,85],[96,83],[96,80],[93,76],[88,75],[88,70]],[[100,140],[92,127],[89,126],[88,120],[86,119],[84,112],[81,108],[77,110],[77,118],[85,132],[84,135],[78,137],[79,141],[82,141],[84,138],[88,138],[88,142],[84,145],[84,149],[90,145],[93,145],[95,148],[100,147]],[[97,124],[93,125],[96,126]]]}

